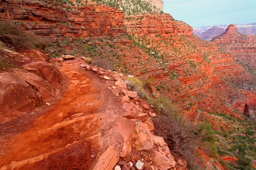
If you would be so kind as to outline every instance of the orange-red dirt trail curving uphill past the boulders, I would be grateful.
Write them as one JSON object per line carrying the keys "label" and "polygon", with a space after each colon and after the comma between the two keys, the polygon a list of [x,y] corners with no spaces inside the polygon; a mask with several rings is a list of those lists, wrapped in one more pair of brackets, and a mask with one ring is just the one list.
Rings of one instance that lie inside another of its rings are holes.
{"label": "orange-red dirt trail curving uphill past the boulders", "polygon": [[110,113],[102,113],[115,99],[105,82],[89,71],[79,71],[76,61],[64,62],[61,72],[68,81],[63,98],[25,130],[0,136],[2,169],[14,165],[19,169],[90,169],[95,163],[91,155],[96,157],[104,149],[99,149],[99,137]]}

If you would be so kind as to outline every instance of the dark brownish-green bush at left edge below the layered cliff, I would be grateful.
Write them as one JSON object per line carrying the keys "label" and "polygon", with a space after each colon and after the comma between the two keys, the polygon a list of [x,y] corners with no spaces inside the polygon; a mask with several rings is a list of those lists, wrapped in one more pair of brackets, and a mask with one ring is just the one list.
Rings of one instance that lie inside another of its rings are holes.
{"label": "dark brownish-green bush at left edge below the layered cliff", "polygon": [[46,38],[33,34],[30,31],[23,31],[10,21],[0,21],[0,41],[20,50],[22,48],[46,48]]}

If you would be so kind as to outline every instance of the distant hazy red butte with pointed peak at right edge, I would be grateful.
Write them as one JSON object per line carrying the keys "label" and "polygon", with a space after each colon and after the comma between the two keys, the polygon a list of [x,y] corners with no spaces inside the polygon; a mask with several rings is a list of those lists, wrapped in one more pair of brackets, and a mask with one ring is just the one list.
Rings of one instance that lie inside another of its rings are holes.
{"label": "distant hazy red butte with pointed peak at right edge", "polygon": [[215,37],[213,42],[217,44],[222,50],[233,54],[239,65],[247,70],[247,81],[244,81],[240,88],[242,89],[242,93],[247,98],[247,109],[253,113],[256,104],[254,100],[254,94],[256,93],[256,87],[254,83],[256,78],[255,36],[247,36],[241,34],[237,31],[237,27],[234,24],[231,24],[227,27],[223,34]]}

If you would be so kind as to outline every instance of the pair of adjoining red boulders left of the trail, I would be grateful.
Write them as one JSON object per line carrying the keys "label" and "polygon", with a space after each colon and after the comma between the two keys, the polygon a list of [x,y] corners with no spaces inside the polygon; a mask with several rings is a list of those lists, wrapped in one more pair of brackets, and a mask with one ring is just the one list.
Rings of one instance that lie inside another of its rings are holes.
{"label": "pair of adjoining red boulders left of the trail", "polygon": [[38,104],[54,101],[62,78],[58,69],[45,62],[11,71],[0,73],[0,124],[23,116]]}

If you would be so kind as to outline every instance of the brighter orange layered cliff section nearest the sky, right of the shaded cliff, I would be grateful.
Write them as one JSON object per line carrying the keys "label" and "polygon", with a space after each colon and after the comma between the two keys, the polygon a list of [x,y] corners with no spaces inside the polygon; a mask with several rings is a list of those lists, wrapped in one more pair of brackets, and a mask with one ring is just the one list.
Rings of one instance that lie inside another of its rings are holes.
{"label": "brighter orange layered cliff section nearest the sky, right of the shaded cliff", "polygon": [[125,16],[125,26],[130,34],[137,36],[155,35],[192,35],[193,28],[183,21],[176,21],[170,14],[145,14],[139,16]]}

